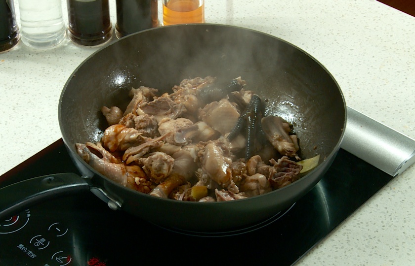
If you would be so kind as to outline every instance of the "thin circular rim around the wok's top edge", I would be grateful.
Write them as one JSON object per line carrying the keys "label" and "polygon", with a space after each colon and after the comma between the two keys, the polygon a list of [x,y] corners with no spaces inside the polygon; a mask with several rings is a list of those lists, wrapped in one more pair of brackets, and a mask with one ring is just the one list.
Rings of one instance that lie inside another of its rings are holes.
{"label": "thin circular rim around the wok's top edge", "polygon": [[[303,177],[301,177],[300,179],[298,179],[298,180],[296,180],[295,182],[292,182],[290,185],[287,185],[287,186],[285,186],[285,187],[282,187],[282,188],[279,188],[279,189],[276,189],[276,190],[273,190],[273,191],[271,191],[271,192],[269,192],[269,193],[266,193],[266,194],[262,194],[262,195],[257,195],[257,196],[253,196],[253,197],[249,197],[249,198],[246,198],[246,199],[238,199],[238,200],[230,200],[230,201],[209,201],[209,202],[199,202],[199,201],[183,201],[183,200],[174,200],[174,199],[164,199],[164,198],[158,198],[158,197],[154,197],[154,196],[151,196],[151,195],[149,195],[149,194],[145,194],[145,193],[141,193],[141,192],[138,192],[138,191],[135,191],[135,190],[132,190],[132,189],[129,189],[129,188],[127,188],[127,187],[124,187],[124,186],[122,186],[121,184],[119,184],[119,183],[117,183],[117,182],[115,182],[115,181],[113,181],[113,180],[111,180],[110,178],[108,178],[108,177],[106,177],[105,175],[103,175],[103,174],[101,174],[101,173],[99,173],[98,171],[96,171],[94,168],[92,168],[91,166],[89,166],[89,164],[87,164],[85,161],[83,161],[83,159],[78,155],[78,153],[76,152],[76,149],[75,149],[75,147],[72,147],[72,145],[68,145],[68,141],[67,141],[67,139],[68,139],[68,136],[67,136],[67,133],[65,132],[65,130],[64,130],[64,128],[63,128],[63,123],[62,123],[62,101],[63,101],[63,98],[64,98],[64,95],[65,95],[65,92],[66,92],[66,90],[67,90],[67,88],[68,88],[68,85],[69,85],[69,83],[71,82],[71,80],[72,80],[72,78],[76,75],[76,73],[78,72],[78,70],[87,62],[87,61],[89,61],[92,57],[94,57],[95,55],[97,55],[98,53],[101,53],[102,51],[104,51],[106,48],[108,48],[108,47],[110,47],[110,46],[112,46],[112,45],[117,45],[117,43],[118,42],[120,42],[120,41],[122,41],[122,40],[124,40],[124,39],[126,39],[126,38],[131,38],[131,37],[133,37],[133,36],[135,36],[135,35],[139,35],[139,34],[142,34],[142,33],[144,33],[144,32],[149,32],[149,31],[158,31],[158,30],[164,30],[165,28],[181,28],[181,27],[188,27],[188,26],[193,26],[193,27],[205,27],[205,26],[209,26],[209,27],[217,27],[217,28],[234,28],[234,29],[238,29],[238,30],[242,30],[242,31],[248,31],[248,32],[252,32],[252,33],[257,33],[257,34],[261,34],[261,35],[265,35],[266,37],[269,37],[269,38],[274,38],[274,39],[277,39],[277,40],[279,40],[279,41],[282,41],[282,42],[284,42],[284,43],[286,43],[286,44],[288,44],[288,45],[290,45],[290,46],[292,46],[293,48],[295,48],[295,49],[297,49],[298,51],[300,51],[301,53],[303,53],[303,54],[305,54],[307,57],[309,57],[311,60],[313,60],[315,63],[317,63],[318,64],[318,66],[320,66],[328,75],[329,75],[329,77],[331,78],[331,80],[334,82],[334,84],[335,84],[335,86],[336,86],[336,88],[337,88],[337,90],[338,90],[338,92],[339,92],[339,94],[340,94],[340,97],[341,97],[341,100],[342,100],[342,103],[343,103],[343,111],[344,111],[344,121],[343,121],[343,126],[342,126],[342,128],[341,128],[341,133],[340,133],[340,137],[339,137],[339,139],[338,139],[338,141],[337,141],[337,143],[336,143],[336,145],[334,146],[334,148],[332,149],[332,151],[330,152],[330,154],[324,159],[324,161],[323,162],[321,162],[318,166],[316,166],[315,168],[313,168],[312,170],[310,170],[310,171],[308,171]],[[233,26],[233,25],[225,25],[225,24],[211,24],[211,23],[201,23],[201,24],[179,24],[179,25],[169,25],[169,26],[162,26],[162,27],[157,27],[157,28],[152,28],[152,29],[147,29],[147,30],[144,30],[144,31],[141,31],[141,32],[137,32],[137,33],[132,33],[132,34],[130,34],[130,35],[127,35],[127,36],[124,36],[124,37],[122,37],[122,38],[119,38],[119,39],[117,39],[117,40],[115,40],[115,41],[113,41],[113,42],[111,42],[111,43],[108,43],[108,44],[106,44],[106,45],[104,45],[104,46],[102,46],[102,47],[100,47],[98,50],[96,50],[95,52],[93,52],[90,56],[88,56],[85,60],[83,60],[83,62],[81,63],[81,64],[79,64],[75,69],[74,69],[74,71],[70,74],[70,76],[69,76],[69,78],[67,79],[67,81],[65,82],[65,85],[64,85],[64,87],[63,87],[63,89],[62,89],[62,92],[61,92],[61,95],[60,95],[60,97],[59,97],[59,102],[58,102],[58,121],[59,121],[59,128],[60,128],[60,131],[61,131],[61,133],[62,133],[62,140],[63,140],[63,142],[64,142],[64,144],[65,144],[65,146],[66,146],[66,148],[67,149],[69,149],[75,156],[76,156],[76,159],[77,159],[77,161],[78,161],[78,163],[79,162],[81,162],[81,164],[83,164],[83,166],[85,166],[89,171],[91,171],[92,173],[93,173],[93,176],[88,176],[88,178],[93,178],[93,177],[99,177],[99,178],[103,178],[105,181],[107,181],[107,182],[110,182],[110,183],[112,183],[113,185],[115,185],[115,186],[117,186],[117,187],[119,187],[119,188],[121,188],[121,189],[126,189],[126,190],[128,190],[130,193],[133,193],[134,195],[139,195],[140,197],[149,197],[149,198],[151,198],[152,200],[163,200],[163,201],[166,201],[166,200],[169,200],[169,201],[174,201],[174,202],[177,202],[176,204],[197,204],[197,205],[200,205],[200,206],[203,206],[203,205],[205,205],[205,204],[224,204],[225,202],[226,202],[226,204],[236,204],[237,202],[240,202],[241,200],[242,201],[246,201],[246,200],[249,200],[249,199],[254,199],[254,198],[259,198],[259,197],[270,197],[269,195],[272,195],[272,194],[275,194],[275,193],[277,193],[277,192],[281,192],[281,191],[283,191],[283,190],[286,190],[286,189],[289,189],[290,187],[292,187],[292,186],[295,186],[296,184],[298,184],[298,183],[300,183],[302,180],[304,180],[304,179],[307,179],[308,177],[310,177],[310,176],[313,176],[313,173],[314,172],[317,172],[317,171],[323,171],[323,173],[322,174],[320,174],[320,176],[319,176],[319,178],[318,178],[318,180],[317,180],[317,182],[318,181],[320,181],[321,180],[321,178],[323,177],[323,175],[324,175],[324,172],[325,172],[325,170],[327,170],[328,168],[330,168],[330,166],[331,166],[331,163],[330,163],[330,165],[327,165],[327,162],[330,162],[332,159],[333,159],[333,157],[335,157],[336,155],[337,155],[337,152],[338,152],[338,150],[340,149],[340,145],[341,145],[341,142],[342,142],[342,140],[343,140],[343,138],[344,138],[344,134],[345,134],[345,129],[346,129],[346,124],[347,124],[347,106],[346,106],[346,100],[345,100],[345,98],[344,98],[344,94],[343,94],[343,92],[342,92],[342,90],[341,90],[341,88],[340,88],[340,86],[338,85],[338,83],[337,83],[337,81],[336,81],[336,79],[334,78],[334,76],[332,75],[332,73],[322,64],[322,63],[320,63],[316,58],[314,58],[312,55],[310,55],[308,52],[306,52],[306,51],[304,51],[303,49],[301,49],[301,48],[299,48],[299,47],[297,47],[296,45],[294,45],[294,44],[292,44],[292,43],[290,43],[290,42],[288,42],[288,41],[286,41],[286,40],[284,40],[284,39],[281,39],[281,38],[279,38],[279,37],[277,37],[277,36],[274,36],[274,35],[271,35],[271,34],[269,34],[269,33],[263,33],[263,32],[260,32],[260,31],[257,31],[257,30],[253,30],[253,29],[248,29],[248,28],[245,28],[245,27],[241,27],[241,26]],[[325,170],[324,170],[324,168],[326,168]],[[310,189],[312,189],[313,187],[314,187],[315,185],[313,185]],[[101,188],[102,189],[102,188]]]}

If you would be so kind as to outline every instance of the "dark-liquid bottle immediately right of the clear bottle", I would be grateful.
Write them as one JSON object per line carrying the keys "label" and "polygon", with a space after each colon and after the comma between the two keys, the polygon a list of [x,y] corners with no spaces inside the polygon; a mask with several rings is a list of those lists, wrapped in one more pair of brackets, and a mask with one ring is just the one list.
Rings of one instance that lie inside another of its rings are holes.
{"label": "dark-liquid bottle immediately right of the clear bottle", "polygon": [[67,0],[69,38],[92,46],[108,41],[112,35],[108,0]]}

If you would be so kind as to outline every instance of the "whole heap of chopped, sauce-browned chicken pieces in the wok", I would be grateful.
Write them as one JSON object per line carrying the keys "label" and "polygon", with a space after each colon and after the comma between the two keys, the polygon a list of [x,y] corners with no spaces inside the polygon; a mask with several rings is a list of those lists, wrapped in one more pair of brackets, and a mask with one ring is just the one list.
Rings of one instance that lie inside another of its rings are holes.
{"label": "whole heap of chopped, sauce-browned chicken pieces in the wok", "polygon": [[160,96],[132,88],[124,113],[102,107],[101,141],[77,143],[77,152],[111,180],[161,198],[227,201],[287,186],[302,168],[289,159],[299,160],[297,136],[282,118],[262,118],[261,99],[245,85],[208,76]]}

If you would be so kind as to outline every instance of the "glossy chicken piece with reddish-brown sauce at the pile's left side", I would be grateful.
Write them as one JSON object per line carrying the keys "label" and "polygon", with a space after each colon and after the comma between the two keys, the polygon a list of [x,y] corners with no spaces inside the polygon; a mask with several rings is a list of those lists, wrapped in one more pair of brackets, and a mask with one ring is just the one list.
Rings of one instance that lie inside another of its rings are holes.
{"label": "glossy chicken piece with reddish-brown sauce at the pile's left side", "polygon": [[126,128],[123,125],[112,125],[104,131],[101,138],[109,151],[124,151],[130,147],[141,144],[144,139],[136,129]]}

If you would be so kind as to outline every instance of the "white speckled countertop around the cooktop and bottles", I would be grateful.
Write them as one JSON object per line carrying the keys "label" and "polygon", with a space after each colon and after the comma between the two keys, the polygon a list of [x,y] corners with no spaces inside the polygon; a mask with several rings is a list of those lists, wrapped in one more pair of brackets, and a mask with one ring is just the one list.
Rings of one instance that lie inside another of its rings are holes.
{"label": "white speckled countertop around the cooktop and bottles", "polygon": [[[258,30],[302,48],[329,69],[350,107],[415,138],[414,17],[375,0],[206,0],[206,22]],[[0,54],[0,175],[61,137],[61,90],[97,49],[66,38],[53,49],[20,42]],[[414,188],[411,166],[298,265],[415,265]]]}

